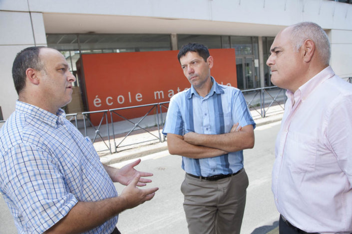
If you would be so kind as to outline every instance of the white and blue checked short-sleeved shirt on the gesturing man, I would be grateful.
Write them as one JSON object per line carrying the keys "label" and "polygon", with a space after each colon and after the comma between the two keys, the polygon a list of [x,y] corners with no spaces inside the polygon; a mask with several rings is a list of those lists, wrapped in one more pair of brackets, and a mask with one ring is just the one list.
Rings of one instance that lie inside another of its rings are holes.
{"label": "white and blue checked short-sleeved shirt on the gesturing man", "polygon": [[[61,109],[55,116],[19,101],[0,129],[0,192],[21,234],[45,232],[78,201],[117,196],[90,139]],[[86,233],[110,234],[116,223]]]}

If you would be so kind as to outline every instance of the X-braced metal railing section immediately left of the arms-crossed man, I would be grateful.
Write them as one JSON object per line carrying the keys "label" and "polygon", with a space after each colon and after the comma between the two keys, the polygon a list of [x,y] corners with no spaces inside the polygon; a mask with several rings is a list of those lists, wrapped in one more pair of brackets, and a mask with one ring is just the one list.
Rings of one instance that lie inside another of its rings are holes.
{"label": "X-braced metal railing section immediately left of the arms-crossed man", "polygon": [[[128,119],[126,117],[124,117],[121,113],[119,113],[122,110],[127,110],[127,109],[136,109],[136,108],[144,108],[144,107],[150,107],[149,111],[147,111],[147,113],[143,116],[140,117],[140,119],[137,122],[133,122],[131,119]],[[151,133],[150,131],[148,131],[145,127],[142,127],[140,125],[140,123],[151,113],[151,111],[156,110],[156,117],[157,117],[157,127],[158,127],[158,134],[159,136],[154,135],[153,133]],[[149,142],[149,141],[154,141],[156,139],[159,140],[159,142],[161,142],[161,136],[160,136],[160,124],[159,124],[159,113],[158,113],[158,103],[154,103],[154,104],[148,104],[148,105],[140,105],[140,106],[132,106],[132,107],[124,107],[124,108],[116,108],[116,109],[110,109],[110,117],[111,117],[111,126],[112,126],[112,134],[114,136],[114,146],[115,146],[115,152],[117,152],[117,148],[118,147],[122,147],[122,146],[130,146],[130,145],[134,145],[134,144],[138,144],[138,143],[144,143],[144,142]],[[114,124],[113,124],[113,115],[116,115],[124,120],[126,120],[127,122],[133,124],[133,127],[127,132],[127,134],[123,137],[123,139],[116,144],[116,137],[115,137],[115,130],[114,130]],[[153,139],[148,139],[148,140],[143,140],[143,141],[138,141],[138,142],[134,142],[131,144],[125,144],[125,145],[121,145],[121,143],[127,138],[127,136],[129,136],[132,131],[134,131],[137,127],[139,127],[140,129],[142,129],[143,131],[149,133],[150,135],[154,136]]]}

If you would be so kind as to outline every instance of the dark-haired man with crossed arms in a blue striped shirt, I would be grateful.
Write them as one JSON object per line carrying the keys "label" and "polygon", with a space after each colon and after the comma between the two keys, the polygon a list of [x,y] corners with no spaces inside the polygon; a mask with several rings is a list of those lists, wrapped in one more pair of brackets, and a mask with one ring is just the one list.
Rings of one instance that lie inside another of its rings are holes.
{"label": "dark-haired man with crossed arms in a blue striped shirt", "polygon": [[214,59],[206,46],[184,45],[178,60],[192,86],[171,98],[163,133],[186,171],[188,231],[239,234],[248,187],[243,149],[253,148],[256,124],[242,92],[210,76]]}

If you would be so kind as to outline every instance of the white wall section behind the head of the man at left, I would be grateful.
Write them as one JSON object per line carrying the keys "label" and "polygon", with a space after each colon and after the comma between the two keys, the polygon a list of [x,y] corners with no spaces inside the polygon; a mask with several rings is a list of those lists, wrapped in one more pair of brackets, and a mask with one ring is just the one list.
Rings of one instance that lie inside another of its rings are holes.
{"label": "white wall section behind the head of the man at left", "polygon": [[26,0],[0,1],[0,34],[0,106],[6,119],[18,98],[11,75],[16,53],[34,44],[46,45],[42,13],[29,14]]}

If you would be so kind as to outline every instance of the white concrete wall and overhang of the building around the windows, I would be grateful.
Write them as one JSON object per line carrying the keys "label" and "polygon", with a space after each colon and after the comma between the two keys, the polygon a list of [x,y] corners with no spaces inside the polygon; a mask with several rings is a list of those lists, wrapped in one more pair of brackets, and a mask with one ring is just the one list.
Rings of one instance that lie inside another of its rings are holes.
{"label": "white concrete wall and overhang of the building around the windows", "polygon": [[[110,23],[84,24],[83,17]],[[121,17],[128,20],[119,21]],[[352,4],[331,0],[0,0],[2,114],[7,118],[17,99],[11,78],[16,53],[45,45],[46,32],[99,32],[104,26],[104,32],[110,33],[132,29],[133,33],[275,36],[300,21],[314,21],[327,29],[331,65],[341,77],[352,76]],[[115,24],[125,27],[120,30]],[[108,31],[109,27],[113,30]]]}

